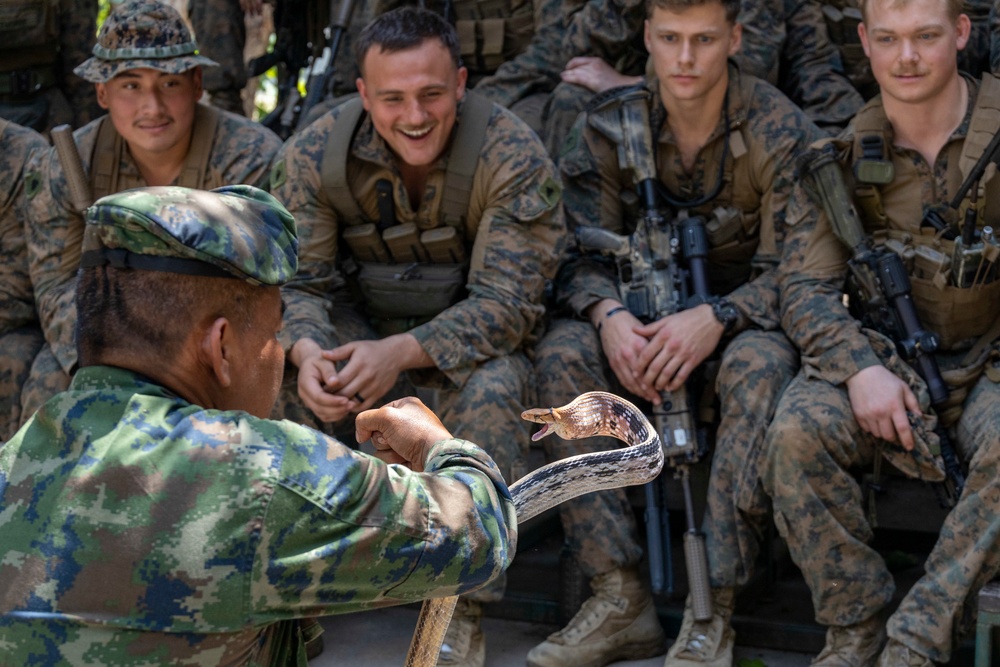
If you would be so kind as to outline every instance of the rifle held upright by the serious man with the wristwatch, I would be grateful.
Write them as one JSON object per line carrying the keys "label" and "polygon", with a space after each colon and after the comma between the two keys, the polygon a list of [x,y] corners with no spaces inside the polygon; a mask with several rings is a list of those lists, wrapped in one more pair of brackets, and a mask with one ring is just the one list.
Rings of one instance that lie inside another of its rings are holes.
{"label": "rifle held upright by the serious man with the wristwatch", "polygon": [[[613,258],[619,293],[629,311],[643,322],[652,322],[684,308],[711,301],[705,257],[708,239],[705,221],[686,211],[668,219],[656,187],[656,164],[649,126],[648,92],[642,88],[620,93],[612,104],[592,108],[589,121],[619,146],[619,162],[631,172],[641,203],[641,214],[630,236],[599,227],[581,227],[577,241],[583,252]],[[690,466],[707,451],[704,431],[696,428],[688,387],[661,392],[653,406],[653,424],[663,443],[664,455],[684,493],[687,530],[684,558],[695,618],[712,618],[705,536],[698,530],[691,498]],[[646,526],[653,591],[664,591],[664,554],[670,574],[670,531],[663,510],[663,480],[646,484]]]}

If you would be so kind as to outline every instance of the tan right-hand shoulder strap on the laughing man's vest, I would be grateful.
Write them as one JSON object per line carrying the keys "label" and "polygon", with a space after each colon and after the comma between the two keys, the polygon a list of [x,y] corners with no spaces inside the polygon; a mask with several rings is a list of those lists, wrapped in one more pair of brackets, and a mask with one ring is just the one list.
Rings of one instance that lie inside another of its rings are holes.
{"label": "tan right-hand shoulder strap on the laughing man's vest", "polygon": [[479,153],[486,142],[493,103],[473,92],[465,94],[465,104],[458,120],[458,131],[451,144],[448,170],[444,177],[441,216],[447,225],[457,227],[465,236],[465,216],[472,196],[472,180],[479,165]]}

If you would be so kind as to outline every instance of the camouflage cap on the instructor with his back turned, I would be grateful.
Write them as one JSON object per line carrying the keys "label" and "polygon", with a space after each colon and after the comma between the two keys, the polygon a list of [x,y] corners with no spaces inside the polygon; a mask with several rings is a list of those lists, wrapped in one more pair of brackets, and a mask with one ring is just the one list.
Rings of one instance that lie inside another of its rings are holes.
{"label": "camouflage cap on the instructor with his back turned", "polygon": [[251,185],[125,190],[87,209],[81,266],[282,285],[298,270],[295,220]]}

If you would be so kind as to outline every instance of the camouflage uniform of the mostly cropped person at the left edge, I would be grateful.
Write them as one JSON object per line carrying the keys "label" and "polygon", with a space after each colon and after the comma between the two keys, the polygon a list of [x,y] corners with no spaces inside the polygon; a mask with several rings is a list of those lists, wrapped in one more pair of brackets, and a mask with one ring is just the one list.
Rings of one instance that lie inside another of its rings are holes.
{"label": "camouflage uniform of the mostly cropped person at the left edge", "polygon": [[45,342],[28,277],[24,167],[31,151],[47,147],[33,130],[0,119],[0,442],[14,435],[20,424],[21,386]]}

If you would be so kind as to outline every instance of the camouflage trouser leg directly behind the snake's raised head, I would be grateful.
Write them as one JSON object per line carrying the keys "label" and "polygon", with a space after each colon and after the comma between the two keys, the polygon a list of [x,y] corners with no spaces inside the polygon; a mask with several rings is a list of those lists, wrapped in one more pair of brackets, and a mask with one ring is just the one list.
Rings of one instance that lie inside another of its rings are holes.
{"label": "camouflage trouser leg directly behind the snake's raised head", "polygon": [[[535,347],[539,407],[559,407],[587,391],[617,391],[597,332],[589,322],[554,320]],[[622,446],[614,438],[540,441],[548,460]],[[635,515],[623,489],[589,493],[559,506],[571,553],[588,578],[635,565],[642,558]]]}

